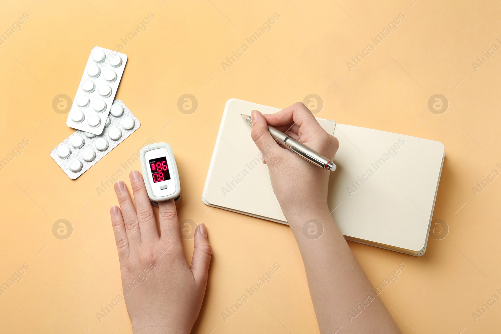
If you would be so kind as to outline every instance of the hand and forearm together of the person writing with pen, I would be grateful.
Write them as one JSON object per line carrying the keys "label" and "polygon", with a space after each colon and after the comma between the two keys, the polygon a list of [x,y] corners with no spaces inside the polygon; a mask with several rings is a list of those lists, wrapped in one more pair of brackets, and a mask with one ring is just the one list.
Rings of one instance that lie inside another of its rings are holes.
{"label": "hand and forearm together of the person writing with pen", "polygon": [[[399,333],[329,213],[330,172],[277,145],[267,123],[331,160],[338,140],[302,103],[273,115],[253,111],[252,120],[252,138],[265,156],[273,190],[298,242],[320,332],[334,333],[341,327],[344,332]],[[371,306],[353,320],[351,307],[368,298]]]}

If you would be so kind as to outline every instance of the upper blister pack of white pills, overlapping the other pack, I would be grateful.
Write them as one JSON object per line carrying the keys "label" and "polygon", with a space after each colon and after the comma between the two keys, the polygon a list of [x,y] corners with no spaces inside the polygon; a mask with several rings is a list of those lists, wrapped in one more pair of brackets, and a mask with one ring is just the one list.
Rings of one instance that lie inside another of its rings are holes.
{"label": "upper blister pack of white pills, overlapping the other pack", "polygon": [[95,135],[103,132],[125,63],[125,54],[92,48],[66,125]]}

